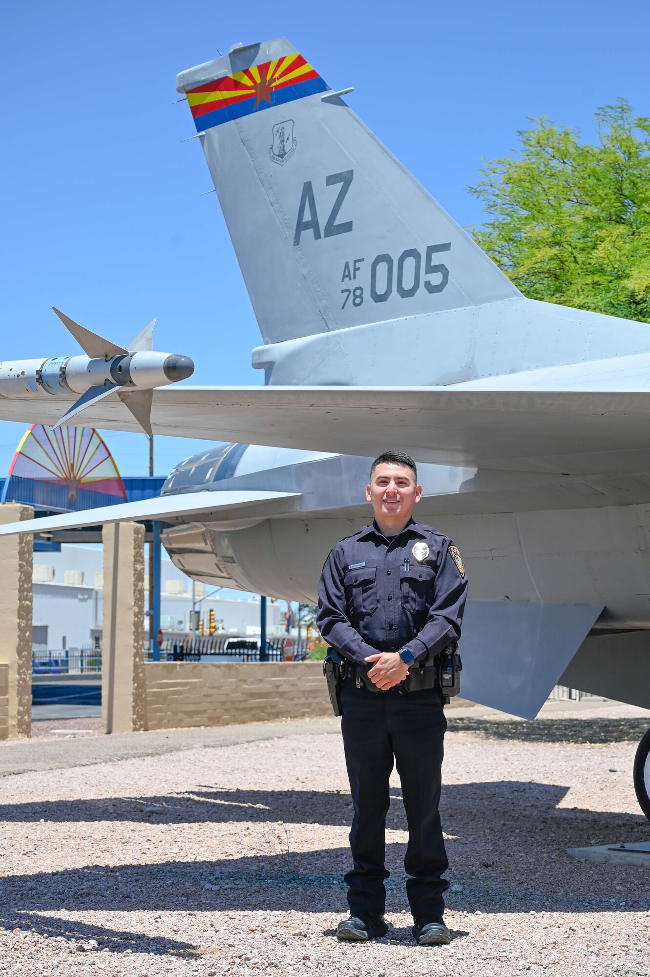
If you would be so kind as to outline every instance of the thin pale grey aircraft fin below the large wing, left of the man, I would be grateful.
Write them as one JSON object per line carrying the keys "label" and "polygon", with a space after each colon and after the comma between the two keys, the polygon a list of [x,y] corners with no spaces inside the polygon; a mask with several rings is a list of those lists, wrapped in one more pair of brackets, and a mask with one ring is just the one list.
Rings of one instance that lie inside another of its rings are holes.
{"label": "thin pale grey aircraft fin below the large wing, left of the man", "polygon": [[42,519],[0,526],[0,536],[21,535],[24,532],[54,532],[74,530],[104,523],[138,522],[139,520],[176,520],[200,517],[202,521],[225,521],[236,518],[264,518],[289,512],[295,508],[300,492],[286,491],[197,491],[179,495],[159,495],[141,502],[105,505],[99,509],[45,516]]}

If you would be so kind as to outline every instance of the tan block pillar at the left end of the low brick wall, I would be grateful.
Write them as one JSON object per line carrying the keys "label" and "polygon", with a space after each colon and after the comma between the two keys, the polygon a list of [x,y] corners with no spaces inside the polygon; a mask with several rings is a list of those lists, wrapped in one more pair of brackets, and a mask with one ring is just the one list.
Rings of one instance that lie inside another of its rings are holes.
{"label": "tan block pillar at the left end of the low brick wall", "polygon": [[144,729],[144,527],[103,527],[102,721],[105,733]]}

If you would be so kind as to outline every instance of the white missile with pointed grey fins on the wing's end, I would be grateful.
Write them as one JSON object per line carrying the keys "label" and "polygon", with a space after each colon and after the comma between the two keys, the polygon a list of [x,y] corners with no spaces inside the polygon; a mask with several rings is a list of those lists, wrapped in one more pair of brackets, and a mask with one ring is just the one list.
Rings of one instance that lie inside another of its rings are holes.
{"label": "white missile with pointed grey fins on the wing's end", "polygon": [[123,347],[85,329],[58,309],[55,312],[81,346],[84,356],[0,362],[0,397],[80,395],[55,424],[59,427],[109,394],[117,393],[150,436],[153,388],[185,380],[194,372],[194,363],[189,357],[153,350],[151,336],[155,319],[132,343]]}

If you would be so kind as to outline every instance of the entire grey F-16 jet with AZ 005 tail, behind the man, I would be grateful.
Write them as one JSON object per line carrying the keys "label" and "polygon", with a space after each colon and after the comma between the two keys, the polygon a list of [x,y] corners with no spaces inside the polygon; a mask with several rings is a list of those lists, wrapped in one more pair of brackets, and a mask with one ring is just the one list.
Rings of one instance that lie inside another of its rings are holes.
{"label": "entire grey F-16 jet with AZ 005 tail, behind the man", "polygon": [[[557,682],[650,706],[648,326],[524,298],[286,39],[178,91],[264,386],[154,390],[154,434],[228,444],[160,498],[38,531],[158,519],[193,578],[313,602],[330,548],[369,521],[370,460],[398,447],[419,463],[418,520],[467,566],[463,695],[527,718]],[[74,399],[13,394],[0,417],[44,424]],[[138,430],[127,407],[110,392],[84,424]],[[635,782],[650,817],[650,734]]]}

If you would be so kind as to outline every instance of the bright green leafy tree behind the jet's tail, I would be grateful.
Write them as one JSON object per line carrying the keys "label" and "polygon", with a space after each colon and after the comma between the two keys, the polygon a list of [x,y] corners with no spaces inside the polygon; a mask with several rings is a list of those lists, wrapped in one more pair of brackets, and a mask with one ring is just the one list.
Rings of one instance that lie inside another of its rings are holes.
{"label": "bright green leafy tree behind the jet's tail", "polygon": [[650,118],[619,100],[595,113],[597,142],[542,117],[514,156],[469,192],[488,219],[478,244],[527,298],[650,321]]}

